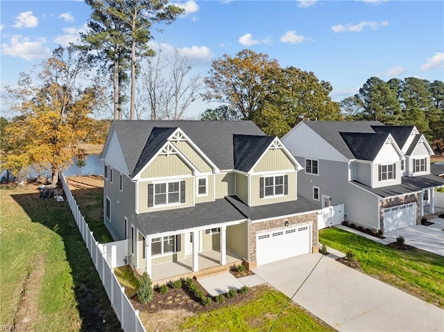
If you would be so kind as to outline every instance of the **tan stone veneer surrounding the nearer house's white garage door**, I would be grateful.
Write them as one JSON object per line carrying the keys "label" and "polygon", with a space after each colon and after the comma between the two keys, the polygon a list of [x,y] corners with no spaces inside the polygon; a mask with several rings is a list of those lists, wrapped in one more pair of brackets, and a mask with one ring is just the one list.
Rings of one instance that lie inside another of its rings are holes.
{"label": "tan stone veneer surrounding the nearer house's white garage door", "polygon": [[318,252],[319,251],[319,245],[318,245],[318,214],[316,212],[314,213],[307,213],[300,216],[293,216],[288,218],[278,218],[275,220],[268,220],[264,222],[255,222],[251,223],[250,226],[250,261],[246,261],[246,268],[248,270],[253,270],[257,267],[257,261],[256,261],[256,235],[258,231],[272,231],[273,229],[285,229],[284,222],[285,220],[288,220],[289,226],[296,226],[304,223],[311,223],[312,224],[312,240],[311,240],[311,252]]}

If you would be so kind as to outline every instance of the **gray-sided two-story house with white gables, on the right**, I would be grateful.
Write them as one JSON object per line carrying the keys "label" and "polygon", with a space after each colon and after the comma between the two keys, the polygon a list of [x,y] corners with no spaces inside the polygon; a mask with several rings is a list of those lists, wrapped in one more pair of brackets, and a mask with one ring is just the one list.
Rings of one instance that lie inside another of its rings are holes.
{"label": "gray-sided two-story house with white gables, on the right", "polygon": [[416,225],[434,212],[432,149],[414,126],[302,121],[282,137],[305,171],[298,193],[319,207],[345,204],[348,222],[377,231]]}

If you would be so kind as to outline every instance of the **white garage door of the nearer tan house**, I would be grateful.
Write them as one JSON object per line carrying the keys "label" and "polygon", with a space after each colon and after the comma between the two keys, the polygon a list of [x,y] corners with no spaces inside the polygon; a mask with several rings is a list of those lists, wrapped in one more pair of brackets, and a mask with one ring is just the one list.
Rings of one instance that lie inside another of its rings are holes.
{"label": "white garage door of the nearer tan house", "polygon": [[310,252],[310,229],[311,225],[305,225],[257,234],[257,265],[288,259]]}

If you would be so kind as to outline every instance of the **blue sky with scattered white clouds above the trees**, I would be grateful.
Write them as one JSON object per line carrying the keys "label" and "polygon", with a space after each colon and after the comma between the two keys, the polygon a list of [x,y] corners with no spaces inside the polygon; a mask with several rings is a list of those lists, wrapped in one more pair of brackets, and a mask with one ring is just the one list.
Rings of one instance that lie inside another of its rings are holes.
{"label": "blue sky with scattered white clouds above the trees", "polygon": [[[444,80],[444,1],[182,1],[185,15],[157,26],[154,42],[176,47],[204,75],[212,60],[243,49],[282,67],[313,71],[332,98],[355,94],[371,76]],[[1,86],[14,86],[75,42],[91,10],[83,1],[1,1]],[[193,105],[188,116],[208,107]],[[2,113],[6,110],[2,102]]]}

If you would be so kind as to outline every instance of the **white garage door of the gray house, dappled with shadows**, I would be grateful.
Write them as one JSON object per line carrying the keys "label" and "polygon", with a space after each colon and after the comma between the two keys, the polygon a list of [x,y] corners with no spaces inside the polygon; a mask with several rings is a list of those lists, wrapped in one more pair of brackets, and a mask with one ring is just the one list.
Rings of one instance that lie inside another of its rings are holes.
{"label": "white garage door of the gray house, dappled with shadows", "polygon": [[384,231],[416,225],[416,202],[384,209]]}

